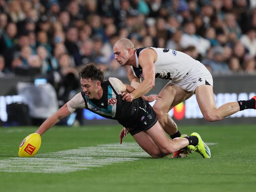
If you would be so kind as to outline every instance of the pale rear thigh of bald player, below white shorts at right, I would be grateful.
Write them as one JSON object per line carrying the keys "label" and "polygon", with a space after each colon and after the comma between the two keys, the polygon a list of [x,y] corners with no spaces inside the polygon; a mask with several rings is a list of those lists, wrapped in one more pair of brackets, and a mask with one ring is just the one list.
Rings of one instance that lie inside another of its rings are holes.
{"label": "pale rear thigh of bald player, below white shorts at right", "polygon": [[209,85],[201,85],[196,88],[196,101],[202,112],[214,112],[216,109],[216,102],[213,94],[213,87]]}

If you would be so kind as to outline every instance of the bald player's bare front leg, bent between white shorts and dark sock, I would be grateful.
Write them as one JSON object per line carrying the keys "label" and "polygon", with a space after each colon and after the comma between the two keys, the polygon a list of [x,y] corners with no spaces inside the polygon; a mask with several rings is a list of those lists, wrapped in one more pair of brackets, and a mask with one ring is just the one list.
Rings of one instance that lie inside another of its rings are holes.
{"label": "bald player's bare front leg, bent between white shorts and dark sock", "polygon": [[168,112],[177,104],[191,97],[192,94],[170,83],[166,84],[159,93],[161,98],[157,99],[153,109],[164,131],[170,136],[178,131],[178,127]]}

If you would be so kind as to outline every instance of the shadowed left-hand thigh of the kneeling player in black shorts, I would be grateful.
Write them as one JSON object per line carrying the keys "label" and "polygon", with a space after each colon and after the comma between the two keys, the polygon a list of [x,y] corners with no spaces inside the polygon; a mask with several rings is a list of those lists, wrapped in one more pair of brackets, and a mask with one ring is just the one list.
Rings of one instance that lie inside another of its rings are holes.
{"label": "shadowed left-hand thigh of the kneeling player in black shorts", "polygon": [[138,132],[137,134],[133,135],[133,138],[138,145],[140,145],[140,147],[152,157],[158,157],[161,155],[160,149],[146,132]]}

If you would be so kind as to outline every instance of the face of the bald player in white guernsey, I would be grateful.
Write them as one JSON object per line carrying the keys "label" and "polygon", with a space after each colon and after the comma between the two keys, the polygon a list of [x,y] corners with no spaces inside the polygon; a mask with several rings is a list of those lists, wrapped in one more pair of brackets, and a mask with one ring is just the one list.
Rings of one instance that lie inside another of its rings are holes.
{"label": "face of the bald player in white guernsey", "polygon": [[113,52],[115,55],[115,60],[121,65],[127,65],[127,61],[129,59],[129,51],[125,50],[122,45],[116,44],[113,47]]}

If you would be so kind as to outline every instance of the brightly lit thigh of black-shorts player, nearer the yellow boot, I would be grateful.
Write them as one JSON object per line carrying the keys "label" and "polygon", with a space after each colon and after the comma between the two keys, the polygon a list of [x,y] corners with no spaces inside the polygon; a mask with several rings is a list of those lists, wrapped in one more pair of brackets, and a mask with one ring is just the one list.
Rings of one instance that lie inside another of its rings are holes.
{"label": "brightly lit thigh of black-shorts player, nearer the yellow boot", "polygon": [[157,145],[157,147],[163,152],[170,150],[171,140],[165,134],[162,126],[157,121],[153,127],[146,131],[147,134],[152,138],[153,142]]}

